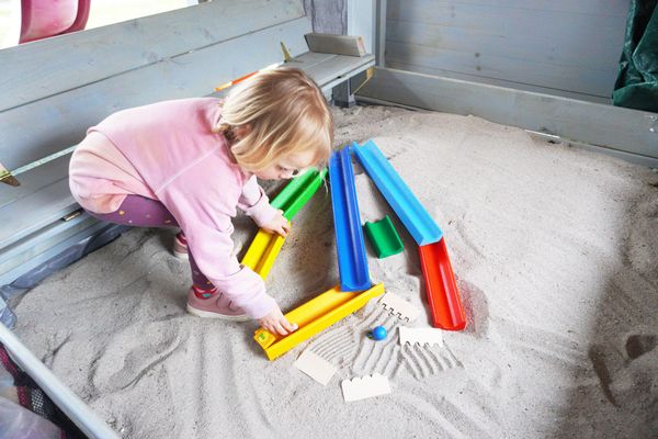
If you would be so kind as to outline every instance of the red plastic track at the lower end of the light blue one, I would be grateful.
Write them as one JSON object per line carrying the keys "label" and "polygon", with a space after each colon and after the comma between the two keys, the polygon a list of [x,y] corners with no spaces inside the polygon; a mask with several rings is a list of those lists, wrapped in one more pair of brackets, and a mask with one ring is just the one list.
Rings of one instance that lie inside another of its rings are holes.
{"label": "red plastic track at the lower end of the light blue one", "polygon": [[445,239],[418,247],[420,266],[426,281],[432,326],[446,330],[466,327],[466,315],[460,299]]}

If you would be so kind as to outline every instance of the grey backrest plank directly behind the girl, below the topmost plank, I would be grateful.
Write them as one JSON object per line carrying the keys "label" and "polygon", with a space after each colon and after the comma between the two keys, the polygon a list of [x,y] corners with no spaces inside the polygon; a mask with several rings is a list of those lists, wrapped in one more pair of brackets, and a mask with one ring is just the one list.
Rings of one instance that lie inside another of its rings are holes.
{"label": "grey backrest plank directly behind the girl, below the topmost plank", "polygon": [[281,41],[293,54],[305,52],[303,35],[309,30],[306,18],[296,19],[5,111],[2,162],[15,169],[76,145],[89,126],[117,110],[208,94],[219,83],[281,61]]}

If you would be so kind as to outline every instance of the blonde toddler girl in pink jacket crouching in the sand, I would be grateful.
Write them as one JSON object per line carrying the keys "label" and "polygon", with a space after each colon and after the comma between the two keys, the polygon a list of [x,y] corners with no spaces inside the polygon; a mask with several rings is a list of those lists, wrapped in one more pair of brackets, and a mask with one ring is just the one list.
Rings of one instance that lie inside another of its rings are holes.
{"label": "blonde toddler girl in pink jacket crouching in the sand", "polygon": [[290,324],[262,279],[232,254],[239,207],[285,236],[288,223],[258,184],[325,166],[333,121],[321,91],[302,70],[250,78],[222,102],[183,99],[128,109],[89,128],[70,162],[70,189],[91,215],[145,227],[177,226],[175,251],[189,250],[188,311],[201,317],[256,318],[272,333]]}

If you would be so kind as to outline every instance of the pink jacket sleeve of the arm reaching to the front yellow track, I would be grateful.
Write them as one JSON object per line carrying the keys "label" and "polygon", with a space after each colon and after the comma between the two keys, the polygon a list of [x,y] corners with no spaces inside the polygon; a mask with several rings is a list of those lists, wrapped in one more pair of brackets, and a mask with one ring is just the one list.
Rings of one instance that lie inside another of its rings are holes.
{"label": "pink jacket sleeve of the arm reaching to the front yellow track", "polygon": [[230,219],[236,203],[230,202],[230,193],[235,201],[240,189],[209,183],[204,176],[200,169],[190,169],[157,195],[183,229],[203,274],[250,317],[261,318],[276,302],[265,293],[263,280],[232,255]]}

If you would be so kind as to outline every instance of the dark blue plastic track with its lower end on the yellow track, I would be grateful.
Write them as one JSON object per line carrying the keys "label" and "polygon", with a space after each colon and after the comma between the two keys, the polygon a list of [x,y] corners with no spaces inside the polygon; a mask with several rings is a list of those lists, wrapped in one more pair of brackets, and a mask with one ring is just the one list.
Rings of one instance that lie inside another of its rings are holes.
{"label": "dark blue plastic track with its lower end on the yellow track", "polygon": [[350,148],[345,147],[336,151],[329,158],[329,182],[331,183],[340,289],[342,291],[367,290],[371,288],[371,280]]}

